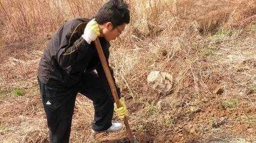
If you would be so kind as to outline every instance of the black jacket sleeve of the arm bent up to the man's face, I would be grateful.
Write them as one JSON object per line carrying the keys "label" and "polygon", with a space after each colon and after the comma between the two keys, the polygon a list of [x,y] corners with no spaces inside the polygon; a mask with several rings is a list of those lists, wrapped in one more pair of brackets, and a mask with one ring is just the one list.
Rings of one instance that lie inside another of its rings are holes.
{"label": "black jacket sleeve of the arm bent up to the man's face", "polygon": [[81,60],[91,50],[91,45],[82,38],[85,23],[75,24],[70,21],[62,27],[61,34],[57,37],[60,48],[57,53],[57,62],[62,68],[72,66]]}

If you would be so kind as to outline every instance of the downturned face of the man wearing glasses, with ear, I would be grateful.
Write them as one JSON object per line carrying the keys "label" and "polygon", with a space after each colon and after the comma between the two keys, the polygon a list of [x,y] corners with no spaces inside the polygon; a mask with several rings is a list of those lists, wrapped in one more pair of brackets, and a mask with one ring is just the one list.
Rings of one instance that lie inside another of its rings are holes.
{"label": "downturned face of the man wearing glasses, with ear", "polygon": [[110,42],[111,40],[115,40],[116,37],[119,37],[121,32],[124,31],[126,24],[119,25],[114,27],[111,22],[105,24],[105,28],[103,29],[104,38]]}

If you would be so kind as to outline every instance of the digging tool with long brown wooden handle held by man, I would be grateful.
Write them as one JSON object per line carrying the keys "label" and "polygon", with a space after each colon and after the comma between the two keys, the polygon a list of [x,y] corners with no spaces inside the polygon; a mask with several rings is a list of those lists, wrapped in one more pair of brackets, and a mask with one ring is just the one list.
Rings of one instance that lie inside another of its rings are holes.
{"label": "digging tool with long brown wooden handle held by man", "polygon": [[[113,96],[113,98],[116,102],[116,106],[117,106],[117,108],[120,108],[121,103],[120,103],[118,95],[117,95],[116,86],[115,86],[114,81],[112,79],[110,69],[108,68],[108,64],[107,64],[105,55],[103,53],[102,46],[100,45],[99,38],[96,38],[96,40],[94,41],[94,45],[96,47],[96,50],[97,50],[98,55],[99,55],[100,62],[102,63],[102,67],[103,67],[104,72],[106,74],[108,84],[110,84],[111,93],[112,93],[112,96]],[[136,138],[133,137],[133,135],[132,135],[132,131],[131,131],[131,128],[129,127],[127,117],[124,116],[123,120],[124,120],[124,124],[125,124],[126,131],[127,131],[127,137],[129,139],[129,141],[132,142],[132,143],[139,143],[139,141],[137,141]]]}

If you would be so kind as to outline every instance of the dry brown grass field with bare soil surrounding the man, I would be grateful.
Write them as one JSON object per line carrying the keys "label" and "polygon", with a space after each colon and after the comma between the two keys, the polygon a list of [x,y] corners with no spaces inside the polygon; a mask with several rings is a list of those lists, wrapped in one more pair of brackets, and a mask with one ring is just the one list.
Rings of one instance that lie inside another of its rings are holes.
{"label": "dry brown grass field with bare soil surrounding the man", "polygon": [[[48,41],[100,0],[0,0],[0,142],[49,142],[37,86]],[[256,142],[256,1],[129,0],[132,21],[110,63],[141,142]],[[162,94],[150,71],[173,75]],[[70,142],[121,142],[91,133],[93,106],[78,96]],[[119,120],[115,115],[115,120]],[[123,141],[125,142],[125,141]]]}

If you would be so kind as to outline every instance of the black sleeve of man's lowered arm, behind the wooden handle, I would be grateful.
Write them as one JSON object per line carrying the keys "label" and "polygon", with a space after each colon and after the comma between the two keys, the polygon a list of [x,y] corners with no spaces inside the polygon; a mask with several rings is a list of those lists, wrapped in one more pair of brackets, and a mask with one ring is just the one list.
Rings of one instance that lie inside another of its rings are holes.
{"label": "black sleeve of man's lowered arm, behind the wooden handle", "polygon": [[[109,63],[108,63],[108,56],[105,55],[106,57],[106,60],[107,60],[107,65],[108,65],[108,68],[110,69],[110,73],[111,73],[111,76],[112,76],[112,79],[114,80],[114,84],[116,86],[116,81],[115,81],[115,78],[114,78],[114,71],[113,69],[109,66]],[[102,67],[102,64],[100,63],[98,67],[96,67],[96,71],[99,75],[99,78],[100,80],[102,81],[103,85],[104,85],[104,89],[106,90],[108,96],[110,96],[112,99],[114,99],[112,97],[112,93],[111,93],[111,89],[110,89],[110,85],[108,84],[108,81],[107,81],[107,77],[106,77],[106,74],[104,72],[104,69]],[[119,99],[121,98],[121,92],[120,92],[120,88],[119,86],[116,86],[116,90],[117,90],[117,95],[119,97]]]}

